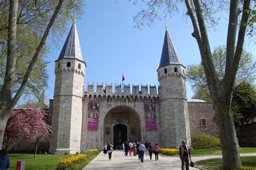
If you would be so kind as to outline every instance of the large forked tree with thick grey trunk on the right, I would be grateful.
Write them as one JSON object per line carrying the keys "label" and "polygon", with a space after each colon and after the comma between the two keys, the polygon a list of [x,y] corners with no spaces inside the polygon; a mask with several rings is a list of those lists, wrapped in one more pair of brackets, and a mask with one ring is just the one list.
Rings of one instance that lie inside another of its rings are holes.
{"label": "large forked tree with thick grey trunk on the right", "polygon": [[[134,0],[134,3],[138,1]],[[142,27],[145,22],[147,25],[153,25],[156,19],[162,19],[167,15],[171,17],[173,12],[178,11],[179,7],[186,6],[184,13],[190,18],[193,26],[192,36],[197,40],[201,65],[204,67],[206,82],[213,101],[215,121],[220,132],[223,168],[240,168],[242,164],[232,118],[231,99],[246,33],[253,36],[255,32],[255,2],[250,0],[232,0],[229,3],[225,0],[142,0],[142,2],[146,4],[146,9],[134,16],[135,27],[138,28]],[[226,9],[229,10],[226,62],[224,78],[219,79],[207,29],[214,28],[218,24],[219,17],[222,16],[218,16],[216,13]]]}

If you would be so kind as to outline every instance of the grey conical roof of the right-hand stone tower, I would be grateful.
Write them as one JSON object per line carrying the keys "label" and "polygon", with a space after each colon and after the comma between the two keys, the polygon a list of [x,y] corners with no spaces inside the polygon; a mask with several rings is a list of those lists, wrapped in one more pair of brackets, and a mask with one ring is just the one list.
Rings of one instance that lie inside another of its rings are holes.
{"label": "grey conical roof of the right-hand stone tower", "polygon": [[176,52],[176,49],[173,45],[171,36],[169,34],[169,31],[168,31],[167,25],[166,25],[164,45],[163,45],[163,49],[162,49],[159,67],[170,65],[170,64],[180,64],[181,65],[181,61],[180,61],[179,55]]}

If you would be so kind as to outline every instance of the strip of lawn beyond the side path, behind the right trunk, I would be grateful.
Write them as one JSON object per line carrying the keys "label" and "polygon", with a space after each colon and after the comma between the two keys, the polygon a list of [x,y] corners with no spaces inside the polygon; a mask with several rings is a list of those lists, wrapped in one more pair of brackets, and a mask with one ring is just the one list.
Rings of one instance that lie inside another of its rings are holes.
{"label": "strip of lawn beyond the side path, behind the right trunk", "polygon": [[[220,155],[221,148],[213,147],[211,148],[212,153],[209,152],[209,149],[194,149],[190,151],[191,156],[203,156],[203,155]],[[239,149],[240,153],[256,153],[256,147],[242,147]]]}

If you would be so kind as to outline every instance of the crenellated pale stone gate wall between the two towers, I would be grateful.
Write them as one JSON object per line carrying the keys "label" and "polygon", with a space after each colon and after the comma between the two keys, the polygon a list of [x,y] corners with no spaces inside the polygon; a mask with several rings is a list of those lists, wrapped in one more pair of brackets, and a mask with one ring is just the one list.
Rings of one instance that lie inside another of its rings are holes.
{"label": "crenellated pale stone gate wall between the two towers", "polygon": [[[90,100],[100,101],[98,131],[87,131],[88,102]],[[157,131],[145,130],[144,102],[156,102]],[[128,133],[130,140],[148,140],[152,141],[152,143],[159,143],[159,133],[163,129],[161,129],[160,125],[160,107],[158,96],[151,97],[148,94],[140,94],[139,96],[125,95],[121,97],[85,95],[83,99],[82,138],[80,143],[80,150],[82,152],[89,148],[102,148],[104,143],[107,143],[108,141],[113,143],[111,133],[113,130],[112,125],[114,120],[111,119],[111,114],[112,111],[118,111],[119,109],[131,114],[128,120],[129,127],[127,127],[129,128],[129,131],[130,128],[136,128],[136,136],[131,136],[130,132]],[[135,121],[132,119],[132,117],[136,117]],[[111,135],[106,135],[105,128],[111,128]]]}

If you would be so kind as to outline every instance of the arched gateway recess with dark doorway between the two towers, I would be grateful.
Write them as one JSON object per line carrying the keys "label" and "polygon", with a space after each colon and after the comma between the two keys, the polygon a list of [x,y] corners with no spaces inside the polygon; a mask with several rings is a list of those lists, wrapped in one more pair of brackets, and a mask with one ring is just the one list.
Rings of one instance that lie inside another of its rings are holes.
{"label": "arched gateway recess with dark doorway between the two towers", "polygon": [[140,118],[136,110],[121,105],[107,112],[104,118],[104,143],[111,142],[114,148],[128,141],[140,141]]}

